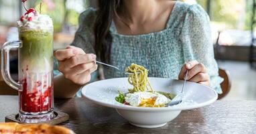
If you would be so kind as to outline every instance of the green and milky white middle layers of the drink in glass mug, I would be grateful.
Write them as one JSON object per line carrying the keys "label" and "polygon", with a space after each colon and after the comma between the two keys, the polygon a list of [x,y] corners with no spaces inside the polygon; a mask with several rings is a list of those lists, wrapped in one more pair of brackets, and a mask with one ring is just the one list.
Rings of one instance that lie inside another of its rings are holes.
{"label": "green and milky white middle layers of the drink in glass mug", "polygon": [[[53,63],[53,35],[49,29],[19,29],[21,72],[50,72]],[[29,67],[29,68],[27,68]],[[23,70],[22,70],[23,69]]]}

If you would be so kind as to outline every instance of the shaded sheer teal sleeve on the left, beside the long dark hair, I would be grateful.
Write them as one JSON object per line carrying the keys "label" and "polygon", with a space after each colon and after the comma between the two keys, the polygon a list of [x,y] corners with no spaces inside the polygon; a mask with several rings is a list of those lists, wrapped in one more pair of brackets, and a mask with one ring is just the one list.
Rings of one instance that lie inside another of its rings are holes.
{"label": "shaded sheer teal sleeve on the left, beside the long dark hair", "polygon": [[79,27],[71,44],[72,46],[82,48],[87,54],[95,54],[93,25],[96,17],[96,10],[92,7],[89,7],[80,14]]}

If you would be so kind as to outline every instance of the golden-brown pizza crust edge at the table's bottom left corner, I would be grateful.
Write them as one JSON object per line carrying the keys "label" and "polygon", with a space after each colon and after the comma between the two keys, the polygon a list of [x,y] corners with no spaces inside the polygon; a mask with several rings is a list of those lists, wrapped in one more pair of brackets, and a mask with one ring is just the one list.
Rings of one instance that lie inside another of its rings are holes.
{"label": "golden-brown pizza crust edge at the table's bottom left corner", "polygon": [[19,123],[0,123],[0,134],[2,133],[74,134],[72,130],[62,126],[51,126],[48,124],[19,124]]}

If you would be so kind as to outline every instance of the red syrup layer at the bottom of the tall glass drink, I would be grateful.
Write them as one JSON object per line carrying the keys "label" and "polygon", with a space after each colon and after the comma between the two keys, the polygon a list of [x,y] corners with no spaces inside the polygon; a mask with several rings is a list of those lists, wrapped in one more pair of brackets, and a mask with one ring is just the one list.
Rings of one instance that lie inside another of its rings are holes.
{"label": "red syrup layer at the bottom of the tall glass drink", "polygon": [[[44,84],[44,85],[42,85]],[[27,87],[27,79],[22,80],[23,90],[19,92],[20,110],[26,113],[50,111],[52,108],[52,86],[36,81],[32,89]],[[42,87],[44,91],[42,91]]]}

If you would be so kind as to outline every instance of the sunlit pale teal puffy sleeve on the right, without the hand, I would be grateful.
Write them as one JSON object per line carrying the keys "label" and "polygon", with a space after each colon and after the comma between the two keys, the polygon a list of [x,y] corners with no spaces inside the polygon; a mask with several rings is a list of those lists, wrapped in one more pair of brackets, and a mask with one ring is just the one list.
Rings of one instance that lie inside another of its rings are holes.
{"label": "sunlit pale teal puffy sleeve on the right, without the hand", "polygon": [[200,5],[188,7],[181,34],[184,60],[197,60],[204,64],[210,76],[210,86],[219,94],[222,93],[220,83],[223,79],[218,76],[218,65],[214,59],[210,19]]}

